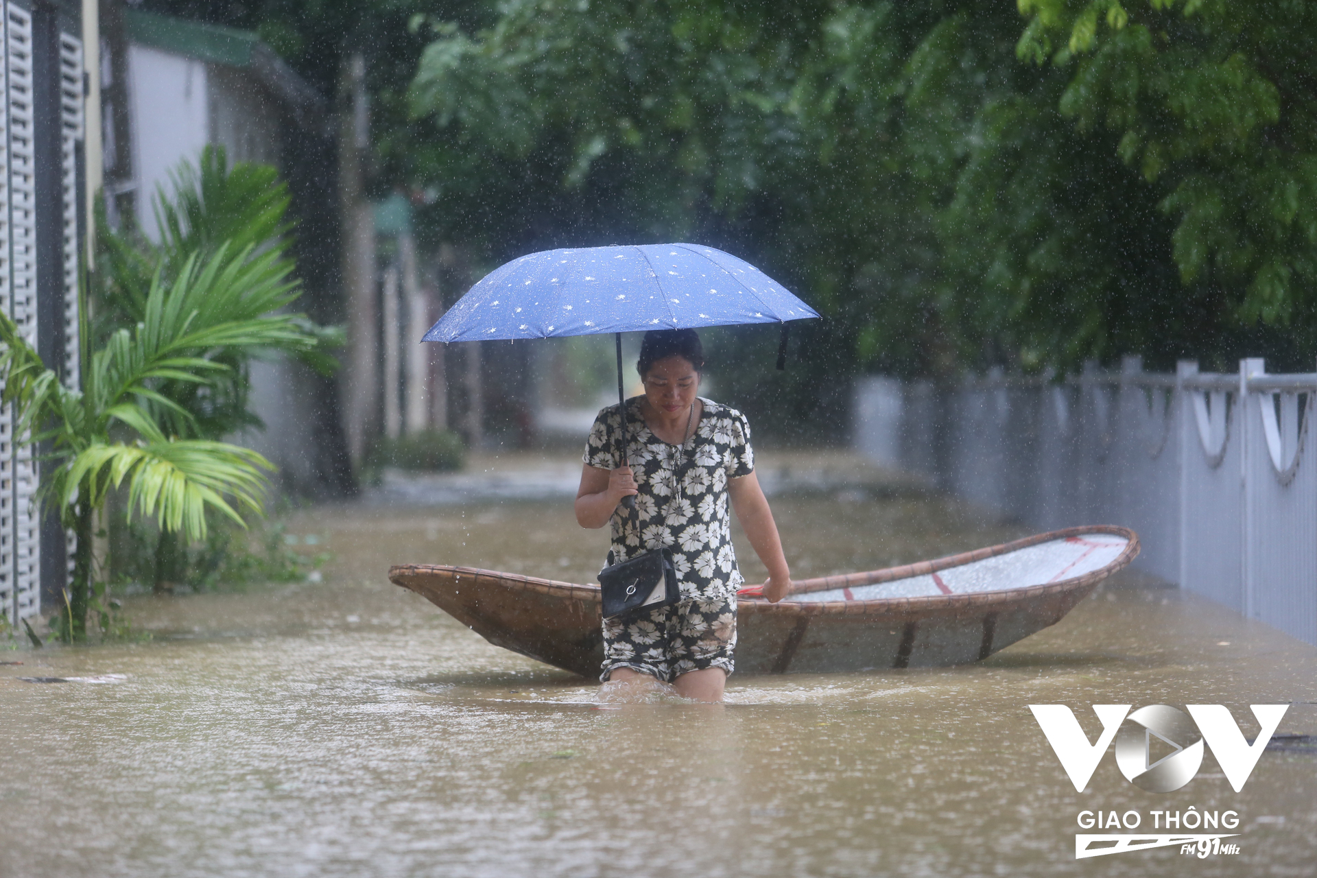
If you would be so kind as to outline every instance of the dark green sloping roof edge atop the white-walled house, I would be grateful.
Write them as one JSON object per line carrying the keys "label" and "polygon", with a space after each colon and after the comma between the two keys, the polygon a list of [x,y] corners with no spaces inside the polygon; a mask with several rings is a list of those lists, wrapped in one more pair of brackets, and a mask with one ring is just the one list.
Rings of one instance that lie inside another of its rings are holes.
{"label": "dark green sloping roof edge atop the white-walled house", "polygon": [[128,39],[184,58],[250,74],[283,101],[299,128],[327,130],[327,101],[250,30],[221,28],[140,9],[124,11]]}

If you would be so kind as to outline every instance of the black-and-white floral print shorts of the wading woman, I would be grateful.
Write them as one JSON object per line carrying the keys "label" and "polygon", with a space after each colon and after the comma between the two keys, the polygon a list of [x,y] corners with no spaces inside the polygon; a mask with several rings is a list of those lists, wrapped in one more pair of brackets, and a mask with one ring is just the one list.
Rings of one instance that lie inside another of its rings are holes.
{"label": "black-and-white floral print shorts of the wading woman", "polygon": [[603,620],[603,674],[630,667],[670,683],[687,671],[735,669],[736,596],[684,598],[668,607]]}

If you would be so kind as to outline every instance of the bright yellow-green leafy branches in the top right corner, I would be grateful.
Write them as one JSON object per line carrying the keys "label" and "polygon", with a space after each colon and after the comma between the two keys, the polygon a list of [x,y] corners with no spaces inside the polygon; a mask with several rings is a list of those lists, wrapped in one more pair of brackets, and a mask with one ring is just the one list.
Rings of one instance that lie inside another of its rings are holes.
{"label": "bright yellow-green leafy branches in the top right corner", "polygon": [[1310,324],[1317,26],[1310,4],[1023,0],[1021,58],[1065,71],[1062,115],[1106,130],[1160,195],[1185,284],[1245,320]]}

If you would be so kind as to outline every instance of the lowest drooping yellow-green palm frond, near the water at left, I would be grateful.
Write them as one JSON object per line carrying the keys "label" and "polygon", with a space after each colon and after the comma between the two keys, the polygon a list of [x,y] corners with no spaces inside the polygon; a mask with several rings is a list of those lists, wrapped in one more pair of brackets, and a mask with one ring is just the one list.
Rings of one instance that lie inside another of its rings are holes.
{"label": "lowest drooping yellow-green palm frond, near the water at left", "polygon": [[269,487],[265,471],[274,466],[261,454],[205,440],[176,440],[144,444],[94,442],[79,453],[63,475],[65,504],[79,490],[90,492],[100,505],[109,490],[128,480],[128,515],[155,516],[162,530],[205,538],[205,511],[221,512],[246,527],[242,516],[225,496],[252,512],[262,509]]}

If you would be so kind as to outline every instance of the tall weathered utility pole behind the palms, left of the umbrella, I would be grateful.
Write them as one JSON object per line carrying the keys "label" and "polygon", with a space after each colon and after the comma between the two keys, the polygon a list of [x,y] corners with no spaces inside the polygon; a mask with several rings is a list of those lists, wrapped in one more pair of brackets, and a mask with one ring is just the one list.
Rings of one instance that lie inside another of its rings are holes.
{"label": "tall weathered utility pole behind the palms, left of the umbrella", "polygon": [[342,373],[344,433],[353,469],[361,467],[371,425],[379,421],[379,308],[375,296],[375,228],[366,200],[370,149],[366,61],[353,53],[340,90],[338,188],[344,229],[342,279],[348,297],[348,370]]}

